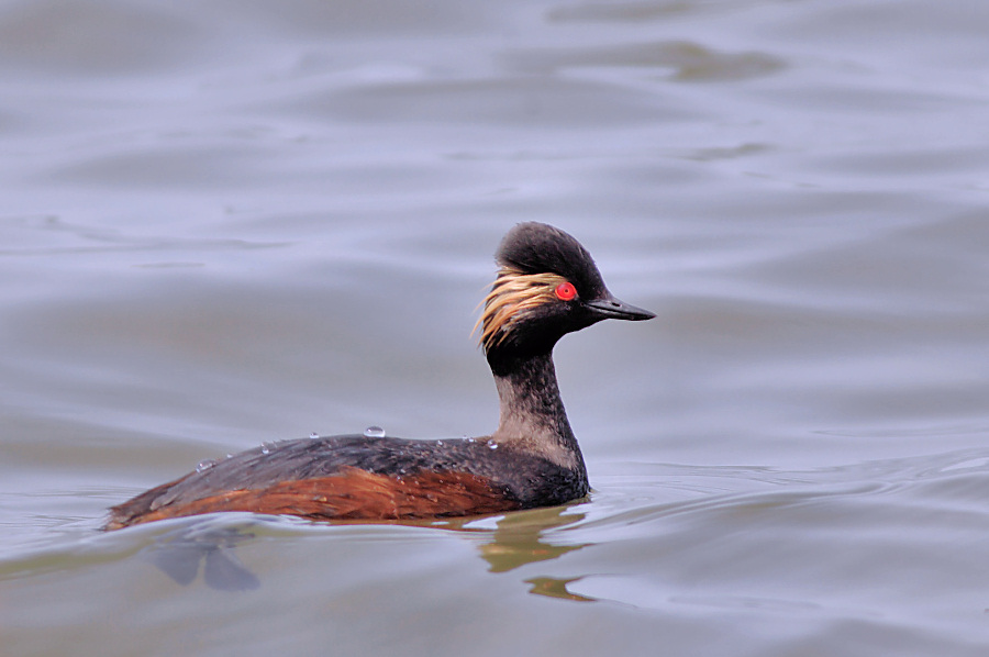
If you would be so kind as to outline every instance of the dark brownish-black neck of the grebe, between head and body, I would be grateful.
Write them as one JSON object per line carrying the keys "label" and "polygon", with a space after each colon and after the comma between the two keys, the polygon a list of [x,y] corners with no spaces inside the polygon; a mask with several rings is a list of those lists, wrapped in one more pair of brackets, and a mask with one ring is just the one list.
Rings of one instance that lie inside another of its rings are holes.
{"label": "dark brownish-black neck of the grebe, between head and body", "polygon": [[492,352],[488,363],[501,400],[494,441],[542,456],[586,478],[584,456],[559,398],[552,352],[524,358]]}

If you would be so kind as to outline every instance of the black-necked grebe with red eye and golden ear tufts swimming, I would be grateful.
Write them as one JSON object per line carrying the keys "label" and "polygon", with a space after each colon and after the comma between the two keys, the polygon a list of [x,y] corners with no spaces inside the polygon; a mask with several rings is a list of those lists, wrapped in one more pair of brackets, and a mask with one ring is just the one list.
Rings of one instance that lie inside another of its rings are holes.
{"label": "black-necked grebe with red eye and golden ear tufts swimming", "polygon": [[107,530],[253,511],[311,520],[397,520],[563,504],[588,492],[587,469],[559,399],[553,347],[601,320],[655,315],[611,296],[590,254],[541,223],[512,229],[478,320],[501,400],[479,438],[344,435],[269,443],[113,506]]}

